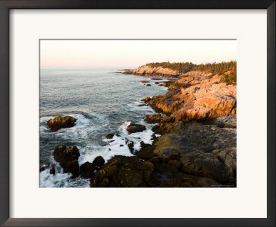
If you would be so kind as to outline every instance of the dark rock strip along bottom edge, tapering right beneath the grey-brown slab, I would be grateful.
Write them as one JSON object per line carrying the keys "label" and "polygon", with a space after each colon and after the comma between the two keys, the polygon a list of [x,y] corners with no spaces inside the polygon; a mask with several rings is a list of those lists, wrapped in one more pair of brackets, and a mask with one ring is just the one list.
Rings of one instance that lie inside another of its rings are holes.
{"label": "dark rock strip along bottom edge, tapering right beneath the grey-brown slab", "polygon": [[[155,161],[155,162],[154,162]],[[154,163],[153,163],[154,162]],[[115,156],[90,179],[91,187],[210,187],[213,179],[187,175],[179,163],[162,163],[158,157],[142,161],[138,157]]]}

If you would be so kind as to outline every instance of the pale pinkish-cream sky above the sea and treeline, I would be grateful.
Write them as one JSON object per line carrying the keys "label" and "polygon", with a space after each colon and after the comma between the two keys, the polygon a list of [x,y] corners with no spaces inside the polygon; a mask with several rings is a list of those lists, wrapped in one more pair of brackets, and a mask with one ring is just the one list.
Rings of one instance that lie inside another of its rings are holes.
{"label": "pale pinkish-cream sky above the sea and treeline", "polygon": [[237,58],[235,40],[41,40],[43,68],[137,68],[150,62],[213,63]]}

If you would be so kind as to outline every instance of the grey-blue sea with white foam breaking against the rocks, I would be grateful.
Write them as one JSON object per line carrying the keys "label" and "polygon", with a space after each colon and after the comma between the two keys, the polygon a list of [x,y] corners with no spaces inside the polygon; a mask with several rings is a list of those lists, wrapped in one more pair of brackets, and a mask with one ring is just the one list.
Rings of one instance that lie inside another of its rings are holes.
{"label": "grey-blue sea with white foam breaking against the rocks", "polygon": [[[92,162],[101,155],[106,161],[114,155],[132,155],[126,139],[139,149],[140,141],[151,144],[152,125],[146,124],[145,115],[154,111],[140,101],[146,96],[164,95],[167,88],[155,84],[150,77],[122,75],[113,68],[93,70],[41,70],[40,72],[40,166],[55,166],[56,174],[49,168],[40,172],[41,187],[89,187],[87,179],[63,174],[62,168],[52,157],[59,144],[77,146],[81,153],[79,164]],[[144,86],[141,80],[152,86]],[[165,79],[164,79],[165,80]],[[58,115],[70,115],[77,119],[72,128],[51,132],[46,121]],[[144,132],[128,135],[130,121],[144,124]],[[119,136],[105,139],[108,133]],[[124,145],[124,146],[120,146]]]}

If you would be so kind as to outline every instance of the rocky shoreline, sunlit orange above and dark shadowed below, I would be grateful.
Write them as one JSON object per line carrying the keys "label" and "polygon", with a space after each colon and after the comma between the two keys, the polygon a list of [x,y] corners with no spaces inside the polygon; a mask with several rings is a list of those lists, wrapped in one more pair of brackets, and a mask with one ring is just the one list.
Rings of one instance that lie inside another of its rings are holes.
{"label": "rocky shoreline, sunlit orange above and dark shadowed below", "polygon": [[[106,164],[102,157],[97,157],[100,164],[86,162],[80,168],[77,168],[79,153],[76,147],[61,145],[55,149],[54,157],[63,170],[71,172],[73,177],[81,175],[90,179],[91,187],[236,186],[236,86],[224,81],[230,72],[224,75],[200,71],[179,74],[170,69],[146,66],[121,73],[177,78],[156,79],[156,84],[168,87],[166,95],[141,99],[157,112],[144,119],[155,124],[152,145],[141,142],[141,150],[135,152],[133,142],[126,141],[134,156],[117,155]],[[148,84],[148,81],[140,82]],[[68,121],[70,124],[57,125],[70,127],[75,119],[68,118]],[[128,133],[145,129],[134,123],[127,128]],[[110,133],[106,137],[112,139],[113,136]]]}

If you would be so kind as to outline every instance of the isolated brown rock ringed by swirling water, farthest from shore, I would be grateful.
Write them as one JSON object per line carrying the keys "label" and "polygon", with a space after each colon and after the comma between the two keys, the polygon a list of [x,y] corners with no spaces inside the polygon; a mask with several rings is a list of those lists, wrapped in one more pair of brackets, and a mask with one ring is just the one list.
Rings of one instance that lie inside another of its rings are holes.
{"label": "isolated brown rock ringed by swirling water, farthest from shore", "polygon": [[58,116],[58,117],[48,120],[46,122],[46,124],[47,124],[47,127],[50,128],[50,130],[52,132],[56,132],[57,130],[59,130],[61,128],[71,128],[71,127],[75,126],[76,121],[77,121],[77,119],[75,119],[74,117]]}

